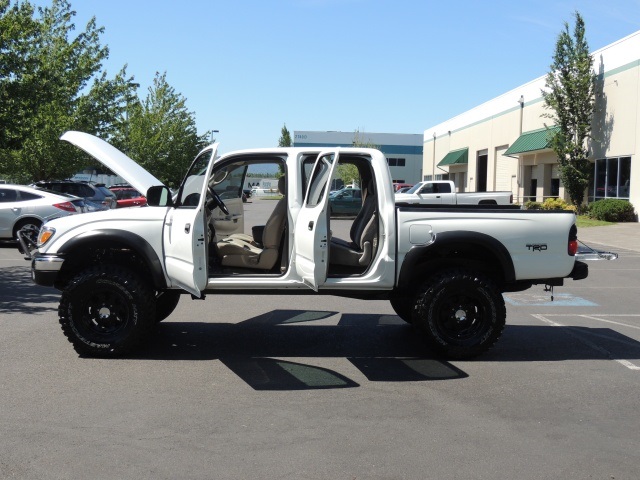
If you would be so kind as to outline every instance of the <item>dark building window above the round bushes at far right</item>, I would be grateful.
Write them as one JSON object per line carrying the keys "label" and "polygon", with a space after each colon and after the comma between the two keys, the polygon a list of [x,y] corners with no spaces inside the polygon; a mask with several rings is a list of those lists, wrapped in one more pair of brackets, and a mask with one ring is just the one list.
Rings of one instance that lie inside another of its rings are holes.
{"label": "dark building window above the round bushes at far right", "polygon": [[631,157],[601,158],[594,163],[589,201],[603,198],[629,198]]}

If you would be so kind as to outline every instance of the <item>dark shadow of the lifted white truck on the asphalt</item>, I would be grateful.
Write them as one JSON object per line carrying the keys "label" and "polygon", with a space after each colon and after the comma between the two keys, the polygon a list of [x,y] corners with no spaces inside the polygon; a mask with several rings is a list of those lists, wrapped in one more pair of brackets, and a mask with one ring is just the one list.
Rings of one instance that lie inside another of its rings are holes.
{"label": "dark shadow of the lifted white truck on the asphalt", "polygon": [[322,359],[332,358],[384,382],[462,379],[468,374],[460,367],[470,362],[640,359],[639,342],[608,328],[508,325],[492,350],[453,365],[395,315],[343,314],[321,324],[334,315],[274,310],[236,324],[166,322],[132,358],[217,359],[256,390],[358,387],[346,371],[326,368]]}

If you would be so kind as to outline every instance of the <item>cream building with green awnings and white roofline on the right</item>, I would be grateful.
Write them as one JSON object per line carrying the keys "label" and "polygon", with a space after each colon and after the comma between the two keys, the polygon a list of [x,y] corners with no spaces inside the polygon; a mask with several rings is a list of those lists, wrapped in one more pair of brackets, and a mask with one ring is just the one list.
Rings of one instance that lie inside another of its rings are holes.
{"label": "cream building with green awnings and white roofline on the right", "polygon": [[[588,200],[640,208],[640,31],[592,53],[598,75]],[[511,190],[514,201],[567,198],[543,116],[545,76],[424,131],[423,176],[458,191]]]}

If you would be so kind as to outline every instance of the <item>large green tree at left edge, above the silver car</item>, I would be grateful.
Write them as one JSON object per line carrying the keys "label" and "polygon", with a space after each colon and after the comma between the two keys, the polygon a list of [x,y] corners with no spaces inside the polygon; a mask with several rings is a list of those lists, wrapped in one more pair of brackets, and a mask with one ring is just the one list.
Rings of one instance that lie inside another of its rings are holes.
{"label": "large green tree at left edge, above the silver car", "polygon": [[108,78],[92,18],[73,36],[67,0],[37,9],[0,0],[0,175],[20,182],[71,176],[87,156],[61,142],[66,130],[109,138],[135,93],[123,67]]}

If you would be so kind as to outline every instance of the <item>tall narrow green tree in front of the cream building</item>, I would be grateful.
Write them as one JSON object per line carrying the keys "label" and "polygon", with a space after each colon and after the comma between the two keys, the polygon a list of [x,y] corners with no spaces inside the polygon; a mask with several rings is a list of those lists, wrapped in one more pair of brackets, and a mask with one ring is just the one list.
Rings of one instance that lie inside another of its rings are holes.
{"label": "tall narrow green tree in front of the cream building", "polygon": [[551,146],[558,156],[560,180],[571,203],[580,212],[589,186],[591,164],[586,140],[590,137],[595,105],[596,74],[585,37],[582,16],[575,12],[573,34],[565,22],[558,36],[551,71],[542,91],[544,114],[559,127]]}

